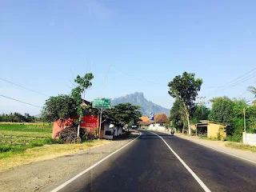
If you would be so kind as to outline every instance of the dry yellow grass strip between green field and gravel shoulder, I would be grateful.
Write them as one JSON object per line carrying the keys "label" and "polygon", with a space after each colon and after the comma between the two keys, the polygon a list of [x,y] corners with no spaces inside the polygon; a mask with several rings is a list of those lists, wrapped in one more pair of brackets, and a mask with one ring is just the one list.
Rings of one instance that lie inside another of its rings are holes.
{"label": "dry yellow grass strip between green field and gravel shoulder", "polygon": [[94,140],[79,144],[55,144],[50,146],[39,146],[24,150],[19,154],[10,154],[7,158],[0,159],[0,171],[48,159],[58,158],[67,154],[75,154],[78,151],[88,150],[95,146],[102,146],[110,143],[108,140]]}

